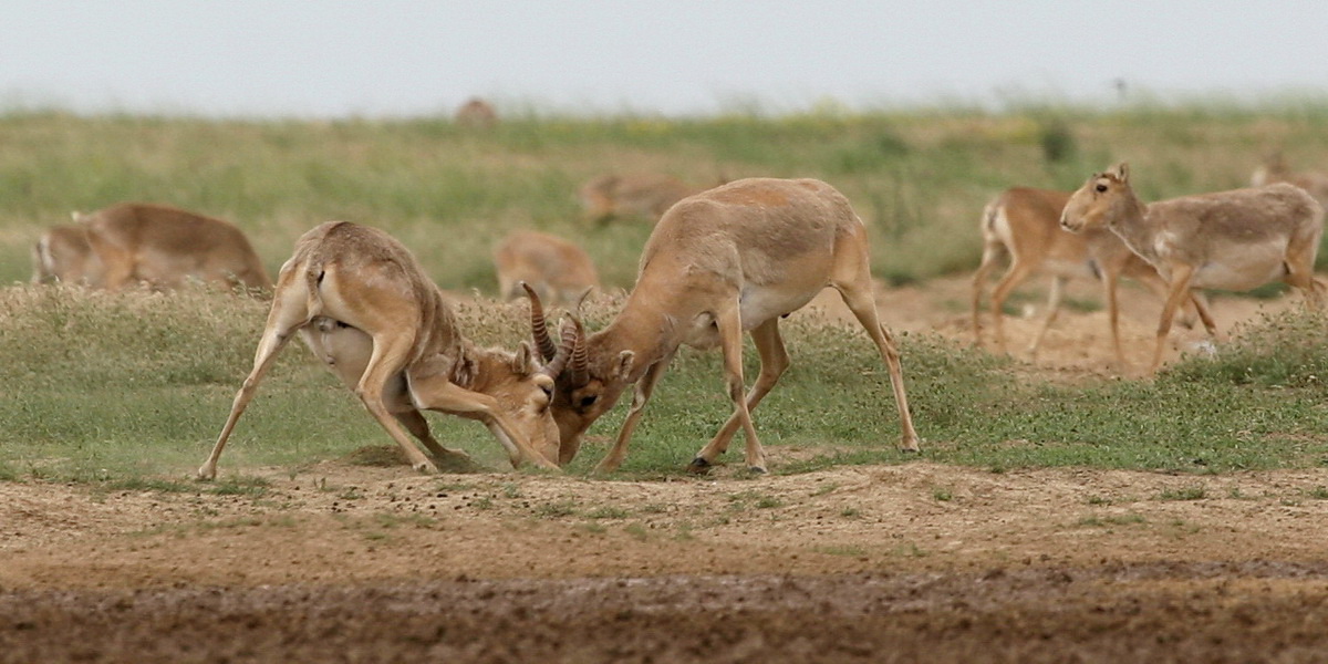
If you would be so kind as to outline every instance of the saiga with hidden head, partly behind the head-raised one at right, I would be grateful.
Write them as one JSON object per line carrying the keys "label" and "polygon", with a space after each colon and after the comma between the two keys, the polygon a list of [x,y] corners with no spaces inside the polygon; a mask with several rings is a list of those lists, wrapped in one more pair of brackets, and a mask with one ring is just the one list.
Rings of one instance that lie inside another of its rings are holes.
{"label": "saiga with hidden head, partly behind the head-raised one at right", "polygon": [[[973,274],[973,341],[981,344],[983,290],[987,278],[1001,255],[1009,256],[1009,268],[996,282],[991,295],[991,316],[996,344],[1005,351],[1004,316],[1001,308],[1009,293],[1033,274],[1049,272],[1052,288],[1046,300],[1046,315],[1037,335],[1028,345],[1037,353],[1042,337],[1056,320],[1061,305],[1061,290],[1068,279],[1098,279],[1106,300],[1108,323],[1112,328],[1112,348],[1116,361],[1126,365],[1121,349],[1120,309],[1117,286],[1121,276],[1135,279],[1150,290],[1166,296],[1166,283],[1147,262],[1141,259],[1112,231],[1098,228],[1082,234],[1066,232],[1060,227],[1061,210],[1069,202],[1069,191],[1012,187],[992,199],[983,210],[983,260]],[[1199,304],[1202,305],[1202,303]]]}

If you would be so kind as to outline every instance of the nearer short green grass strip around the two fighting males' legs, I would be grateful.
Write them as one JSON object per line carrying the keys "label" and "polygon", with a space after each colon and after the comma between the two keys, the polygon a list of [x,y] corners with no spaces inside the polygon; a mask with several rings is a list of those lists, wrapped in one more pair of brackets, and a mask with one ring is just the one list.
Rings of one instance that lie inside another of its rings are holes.
{"label": "nearer short green grass strip around the two fighting males' legs", "polygon": [[[174,490],[211,448],[248,371],[264,304],[206,290],[171,296],[11,287],[0,291],[0,478],[48,478]],[[607,316],[595,303],[588,316]],[[521,305],[479,304],[459,319],[481,343],[525,336]],[[1214,356],[1178,363],[1153,381],[1082,385],[1019,380],[1020,368],[927,335],[902,339],[920,454],[895,449],[898,420],[884,367],[859,331],[793,316],[793,367],[756,412],[773,449],[819,450],[776,463],[805,473],[914,458],[975,467],[1092,466],[1181,473],[1328,465],[1328,324],[1288,312],[1250,324]],[[749,351],[748,371],[756,372]],[[624,477],[676,475],[730,405],[718,353],[684,349],[655,392]],[[616,430],[625,406],[591,434]],[[479,425],[434,416],[440,440],[506,467]],[[388,438],[355,397],[292,344],[260,385],[222,459],[223,477],[254,466],[292,473],[351,458]],[[603,448],[571,463],[588,473]],[[738,441],[726,458],[741,459]],[[159,486],[151,483],[161,479]],[[116,485],[112,485],[116,486]],[[216,490],[222,490],[218,485]],[[232,493],[262,493],[234,481]],[[746,490],[736,501],[761,505]],[[950,491],[935,491],[946,501]]]}

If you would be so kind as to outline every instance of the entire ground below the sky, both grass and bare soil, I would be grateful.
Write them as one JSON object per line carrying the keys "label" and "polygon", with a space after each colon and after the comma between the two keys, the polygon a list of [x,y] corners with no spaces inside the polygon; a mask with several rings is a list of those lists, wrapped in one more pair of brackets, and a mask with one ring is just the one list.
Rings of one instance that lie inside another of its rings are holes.
{"label": "entire ground below the sky, both grass and bare soil", "polygon": [[[73,208],[157,201],[234,220],[270,270],[313,224],[381,226],[511,347],[489,262],[510,228],[582,242],[631,286],[644,220],[590,224],[607,171],[695,183],[818,177],[871,227],[923,452],[833,296],[785,324],[793,368],[757,410],[772,474],[681,471],[728,413],[713,353],[675,360],[622,471],[421,477],[297,347],[215,483],[190,473],[266,303],[0,288],[0,661],[1315,661],[1328,652],[1328,327],[1295,295],[1219,295],[1155,378],[1108,369],[1096,284],[1037,357],[1041,283],[1012,356],[969,345],[977,212],[1129,159],[1149,199],[1243,185],[1262,153],[1328,163],[1328,105],[1032,108],[705,120],[203,121],[0,117],[0,280]],[[1159,303],[1126,291],[1135,367]],[[620,295],[586,305],[604,324]],[[1029,316],[1035,313],[1035,316]],[[752,353],[754,355],[754,353]],[[749,376],[754,374],[754,357]],[[732,454],[730,454],[732,457]]]}

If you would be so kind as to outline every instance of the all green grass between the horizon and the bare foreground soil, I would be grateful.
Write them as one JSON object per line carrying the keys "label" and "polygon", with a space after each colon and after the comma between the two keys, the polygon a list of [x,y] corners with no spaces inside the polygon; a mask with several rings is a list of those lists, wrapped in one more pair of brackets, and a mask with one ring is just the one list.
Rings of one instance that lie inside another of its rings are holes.
{"label": "all green grass between the horizon and the bare foreground soil", "polygon": [[[867,222],[890,283],[969,271],[977,214],[1011,185],[1070,189],[1129,159],[1145,198],[1243,185],[1263,150],[1328,162],[1328,101],[1262,106],[1199,100],[1110,112],[1031,105],[1008,113],[821,109],[781,117],[575,118],[530,113],[494,131],[446,120],[207,121],[0,112],[0,283],[24,280],[40,230],[70,210],[159,201],[244,228],[275,272],[292,240],[341,218],[386,228],[445,288],[493,293],[489,259],[507,230],[576,238],[606,283],[629,287],[644,223],[590,227],[576,186],[604,171],[819,177]],[[219,149],[224,146],[224,149]],[[1321,256],[1323,258],[1323,256]],[[175,490],[210,449],[252,361],[267,303],[190,290],[171,296],[0,288],[0,481],[50,478]],[[592,303],[604,324],[612,300]],[[525,339],[523,309],[461,309],[485,344]],[[757,412],[762,442],[817,450],[774,463],[805,473],[915,458],[1005,470],[1093,466],[1181,473],[1328,465],[1328,325],[1254,323],[1214,357],[1155,381],[1081,385],[1021,378],[1008,360],[927,335],[902,339],[920,454],[895,450],[898,421],[879,357],[861,331],[793,316],[793,367]],[[756,373],[749,352],[749,378]],[[641,421],[624,477],[671,477],[729,413],[717,353],[684,349]],[[591,430],[612,436],[620,405]],[[505,469],[478,424],[437,416],[440,440]],[[355,397],[292,344],[222,459],[297,473],[389,441]],[[570,471],[588,473],[587,444]],[[741,458],[741,440],[726,459]],[[143,482],[134,485],[134,482]],[[238,487],[239,489],[239,487]],[[258,491],[260,487],[254,487]],[[938,499],[942,499],[938,495]],[[753,502],[754,506],[754,502]]]}

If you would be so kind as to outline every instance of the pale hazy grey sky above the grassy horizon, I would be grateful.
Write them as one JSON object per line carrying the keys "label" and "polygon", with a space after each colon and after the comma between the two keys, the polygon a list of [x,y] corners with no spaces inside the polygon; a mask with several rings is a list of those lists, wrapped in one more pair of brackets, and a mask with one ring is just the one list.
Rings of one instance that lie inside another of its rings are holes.
{"label": "pale hazy grey sky above the grassy horizon", "polygon": [[0,0],[0,108],[708,113],[1328,92],[1328,1]]}

